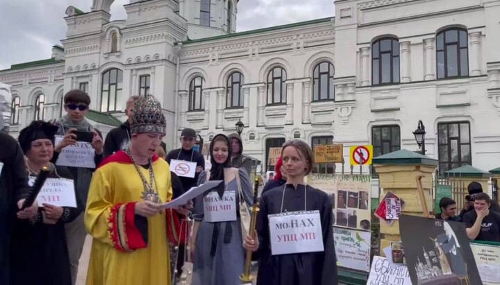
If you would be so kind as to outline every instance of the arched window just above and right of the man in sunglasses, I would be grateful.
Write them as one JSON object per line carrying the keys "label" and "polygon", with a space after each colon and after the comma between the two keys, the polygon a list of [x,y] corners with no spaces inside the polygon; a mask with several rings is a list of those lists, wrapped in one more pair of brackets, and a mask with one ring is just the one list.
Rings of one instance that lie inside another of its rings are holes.
{"label": "arched window just above and right of the man in sunglasses", "polygon": [[109,69],[103,73],[101,87],[101,112],[121,111],[123,71]]}

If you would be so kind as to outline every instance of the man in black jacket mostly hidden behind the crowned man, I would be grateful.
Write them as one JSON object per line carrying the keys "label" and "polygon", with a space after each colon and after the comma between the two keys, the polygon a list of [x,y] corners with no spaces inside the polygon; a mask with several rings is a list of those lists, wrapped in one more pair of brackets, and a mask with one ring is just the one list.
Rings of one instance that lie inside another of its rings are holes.
{"label": "man in black jacket mostly hidden behind the crowned man", "polygon": [[[113,153],[116,153],[118,150],[128,148],[131,140],[130,124],[132,122],[133,105],[139,100],[139,98],[140,96],[132,96],[131,98],[128,98],[125,109],[125,114],[128,116],[128,119],[119,127],[113,128],[113,130],[108,132],[106,141],[104,141],[104,157],[113,155]],[[161,147],[163,150],[167,151],[167,146],[163,141],[161,142]]]}

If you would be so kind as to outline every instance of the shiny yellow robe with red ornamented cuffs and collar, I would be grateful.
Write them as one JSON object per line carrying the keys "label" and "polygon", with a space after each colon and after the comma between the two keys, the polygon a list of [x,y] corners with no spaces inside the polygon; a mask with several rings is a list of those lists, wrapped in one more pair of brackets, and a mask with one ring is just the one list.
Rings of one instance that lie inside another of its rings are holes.
{"label": "shiny yellow robe with red ornamented cuffs and collar", "polygon": [[[133,209],[128,208],[133,204],[128,203],[142,201],[144,187],[133,164],[123,162],[124,153],[115,155],[108,157],[95,171],[90,184],[85,227],[93,241],[87,285],[169,285],[165,214],[147,218],[147,230],[142,231],[147,232],[146,248],[136,246],[134,250],[132,239],[136,245],[142,239],[137,239]],[[149,170],[142,166],[140,170],[149,182]],[[160,199],[167,202],[172,198],[169,164],[156,159],[153,171]],[[131,236],[130,231],[135,236]]]}

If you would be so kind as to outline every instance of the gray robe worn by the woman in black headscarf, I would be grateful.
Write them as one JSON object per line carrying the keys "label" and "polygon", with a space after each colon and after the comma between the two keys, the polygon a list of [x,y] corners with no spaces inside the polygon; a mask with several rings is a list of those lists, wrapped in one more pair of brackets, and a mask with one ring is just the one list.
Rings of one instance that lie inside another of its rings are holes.
{"label": "gray robe worn by the woman in black headscarf", "polygon": [[[250,178],[244,169],[238,169],[240,173],[241,187],[247,206],[250,207],[253,201]],[[207,173],[200,173],[198,184],[206,182]],[[233,179],[227,184],[227,189],[235,190],[238,193],[238,184]],[[237,214],[239,213],[239,198],[236,195]],[[245,252],[242,246],[242,230],[240,216],[238,220],[232,222],[221,222],[219,236],[215,254],[210,254],[212,250],[213,229],[216,223],[203,221],[203,196],[198,196],[193,209],[194,221],[199,221],[199,229],[196,238],[194,264],[192,274],[192,285],[237,285],[240,284],[240,275],[244,270]],[[231,241],[224,243],[224,232],[226,225],[231,225]]]}

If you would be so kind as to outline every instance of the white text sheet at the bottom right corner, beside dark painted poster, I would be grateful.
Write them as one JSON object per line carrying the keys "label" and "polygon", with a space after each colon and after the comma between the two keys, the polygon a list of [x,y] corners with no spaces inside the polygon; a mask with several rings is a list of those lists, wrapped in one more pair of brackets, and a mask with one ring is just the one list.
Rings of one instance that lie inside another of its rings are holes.
{"label": "white text sheet at the bottom right corner, beside dark painted poster", "polygon": [[500,245],[471,243],[472,253],[484,285],[500,285]]}

